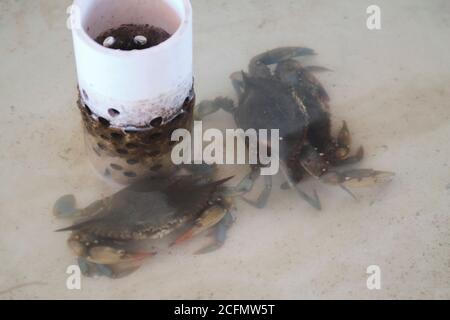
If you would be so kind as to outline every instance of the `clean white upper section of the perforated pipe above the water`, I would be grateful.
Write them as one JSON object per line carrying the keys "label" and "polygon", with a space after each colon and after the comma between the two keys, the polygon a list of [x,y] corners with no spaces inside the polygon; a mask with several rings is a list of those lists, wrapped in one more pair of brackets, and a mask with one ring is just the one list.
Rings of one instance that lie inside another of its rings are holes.
{"label": "clean white upper section of the perforated pipe above the water", "polygon": [[[81,96],[112,126],[148,127],[169,122],[193,84],[192,8],[189,0],[75,0],[80,27],[73,42]],[[94,41],[122,24],[149,24],[172,36],[148,49],[121,51]],[[115,109],[119,115],[111,115]]]}

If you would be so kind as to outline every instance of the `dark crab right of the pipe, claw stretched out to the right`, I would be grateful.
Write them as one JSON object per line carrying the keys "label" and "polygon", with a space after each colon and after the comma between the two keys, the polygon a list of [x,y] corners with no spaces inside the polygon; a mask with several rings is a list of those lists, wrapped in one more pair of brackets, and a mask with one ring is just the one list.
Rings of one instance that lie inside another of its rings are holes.
{"label": "dark crab right of the pipe, claw stretched out to the right", "polygon": [[[393,173],[370,169],[333,170],[363,158],[363,148],[350,155],[351,137],[346,123],[337,137],[331,134],[329,96],[315,72],[328,71],[318,66],[303,66],[296,57],[314,55],[314,51],[302,47],[277,48],[254,57],[249,64],[249,73],[236,72],[231,75],[238,95],[238,105],[232,100],[217,98],[204,101],[198,106],[198,115],[203,117],[218,109],[231,112],[238,127],[247,129],[278,129],[280,132],[279,160],[289,187],[317,209],[321,204],[317,194],[309,196],[298,187],[307,176],[319,178],[326,183],[347,186],[384,182]],[[270,66],[274,65],[271,70]],[[254,167],[249,175],[255,180],[259,172]],[[266,177],[266,190],[257,201],[264,206],[271,189],[271,178]],[[248,180],[248,179],[247,179]],[[252,183],[247,188],[251,188]]]}

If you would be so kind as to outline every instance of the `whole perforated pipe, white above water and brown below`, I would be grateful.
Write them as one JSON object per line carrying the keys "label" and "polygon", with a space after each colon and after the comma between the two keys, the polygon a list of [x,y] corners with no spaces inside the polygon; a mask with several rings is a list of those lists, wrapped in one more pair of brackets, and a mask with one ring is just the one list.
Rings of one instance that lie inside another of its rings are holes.
{"label": "whole perforated pipe, white above water and brown below", "polygon": [[[171,133],[191,130],[193,121],[189,0],[75,0],[74,8],[78,106],[92,164],[121,184],[170,173],[175,169]],[[96,41],[105,31],[130,24],[154,26],[170,37],[131,51]]]}

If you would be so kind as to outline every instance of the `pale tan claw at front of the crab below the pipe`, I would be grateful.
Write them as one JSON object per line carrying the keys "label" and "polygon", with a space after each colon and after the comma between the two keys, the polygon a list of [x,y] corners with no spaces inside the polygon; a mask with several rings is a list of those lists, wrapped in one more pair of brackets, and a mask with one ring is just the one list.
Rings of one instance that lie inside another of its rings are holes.
{"label": "pale tan claw at front of the crab below the pipe", "polygon": [[107,246],[93,247],[89,250],[87,260],[102,265],[114,265],[123,262],[141,261],[154,256],[154,252],[128,253],[123,249]]}

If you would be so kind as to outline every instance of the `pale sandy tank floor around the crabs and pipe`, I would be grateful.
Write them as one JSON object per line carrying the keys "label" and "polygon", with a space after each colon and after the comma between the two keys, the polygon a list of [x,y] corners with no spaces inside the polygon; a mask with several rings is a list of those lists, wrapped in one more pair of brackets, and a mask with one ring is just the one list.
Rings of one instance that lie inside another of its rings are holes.
{"label": "pale sandy tank floor around the crabs and pipe", "polygon": [[[310,181],[318,213],[275,179],[267,208],[237,202],[225,246],[206,239],[161,253],[121,280],[66,288],[75,259],[54,201],[81,204],[113,188],[93,174],[76,108],[69,0],[0,2],[0,299],[450,298],[450,3],[377,1],[382,29],[366,28],[364,1],[195,0],[199,100],[234,97],[231,72],[278,46],[308,46],[333,70],[319,75],[335,130],[347,120],[359,167],[396,173],[392,183],[355,190]],[[208,127],[231,127],[223,112]],[[233,171],[243,168],[229,168]],[[381,290],[366,287],[378,265]]]}

